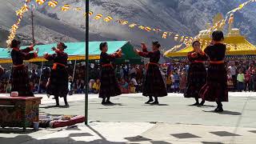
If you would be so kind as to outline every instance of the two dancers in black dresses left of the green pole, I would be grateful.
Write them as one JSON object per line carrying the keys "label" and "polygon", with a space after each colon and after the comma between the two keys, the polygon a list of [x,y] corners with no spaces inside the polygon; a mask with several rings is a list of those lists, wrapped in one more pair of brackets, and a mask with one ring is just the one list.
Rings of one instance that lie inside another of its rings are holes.
{"label": "two dancers in black dresses left of the green pole", "polygon": [[[12,48],[10,55],[13,60],[11,91],[17,91],[18,96],[21,97],[32,97],[34,94],[30,90],[28,69],[23,61],[37,58],[38,49],[34,51],[33,45],[22,50],[20,48],[21,42],[15,39],[11,42],[10,47]],[[63,42],[59,42],[57,48],[52,48],[55,54],[44,54],[46,60],[54,62],[47,82],[47,94],[54,95],[56,106],[59,106],[59,97],[64,98],[65,105],[69,106],[66,100],[66,95],[69,92],[68,73],[66,70],[68,54],[64,52],[66,47]]]}

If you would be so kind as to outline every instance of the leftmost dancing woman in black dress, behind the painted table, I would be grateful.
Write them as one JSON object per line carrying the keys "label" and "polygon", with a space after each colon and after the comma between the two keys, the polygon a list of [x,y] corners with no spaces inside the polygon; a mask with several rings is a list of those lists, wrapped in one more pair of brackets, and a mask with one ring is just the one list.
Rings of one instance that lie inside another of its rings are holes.
{"label": "leftmost dancing woman in black dress, behind the painted table", "polygon": [[34,45],[23,50],[20,49],[20,45],[21,42],[16,39],[10,44],[10,48],[12,48],[10,56],[13,60],[11,91],[18,91],[18,96],[21,97],[34,97],[33,92],[30,90],[28,69],[23,64],[23,61],[37,58],[38,49],[34,53],[30,53],[34,50]]}

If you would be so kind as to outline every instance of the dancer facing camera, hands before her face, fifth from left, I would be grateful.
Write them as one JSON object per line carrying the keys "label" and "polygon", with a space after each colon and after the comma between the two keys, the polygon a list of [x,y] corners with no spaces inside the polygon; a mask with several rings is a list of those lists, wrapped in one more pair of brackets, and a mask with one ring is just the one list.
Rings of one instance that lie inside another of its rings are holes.
{"label": "dancer facing camera, hands before her face, fifth from left", "polygon": [[201,50],[199,41],[192,43],[193,51],[187,54],[190,66],[187,75],[187,86],[184,94],[185,98],[194,98],[195,103],[192,106],[202,106],[205,101],[199,103],[199,91],[206,84],[206,67],[204,62],[207,60],[206,54]]}

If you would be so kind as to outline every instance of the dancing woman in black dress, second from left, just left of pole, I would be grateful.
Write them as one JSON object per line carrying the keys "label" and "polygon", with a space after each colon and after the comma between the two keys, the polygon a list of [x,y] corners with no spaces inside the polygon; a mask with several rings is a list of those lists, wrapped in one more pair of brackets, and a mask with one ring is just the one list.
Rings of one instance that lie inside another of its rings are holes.
{"label": "dancing woman in black dress, second from left, just left of pole", "polygon": [[64,98],[65,106],[69,106],[66,96],[69,92],[68,77],[69,74],[66,70],[68,54],[64,52],[67,46],[63,42],[58,42],[57,48],[53,47],[54,54],[45,54],[48,61],[54,62],[54,66],[50,72],[50,79],[47,84],[46,93],[54,95],[56,106],[59,106],[58,97]]}

